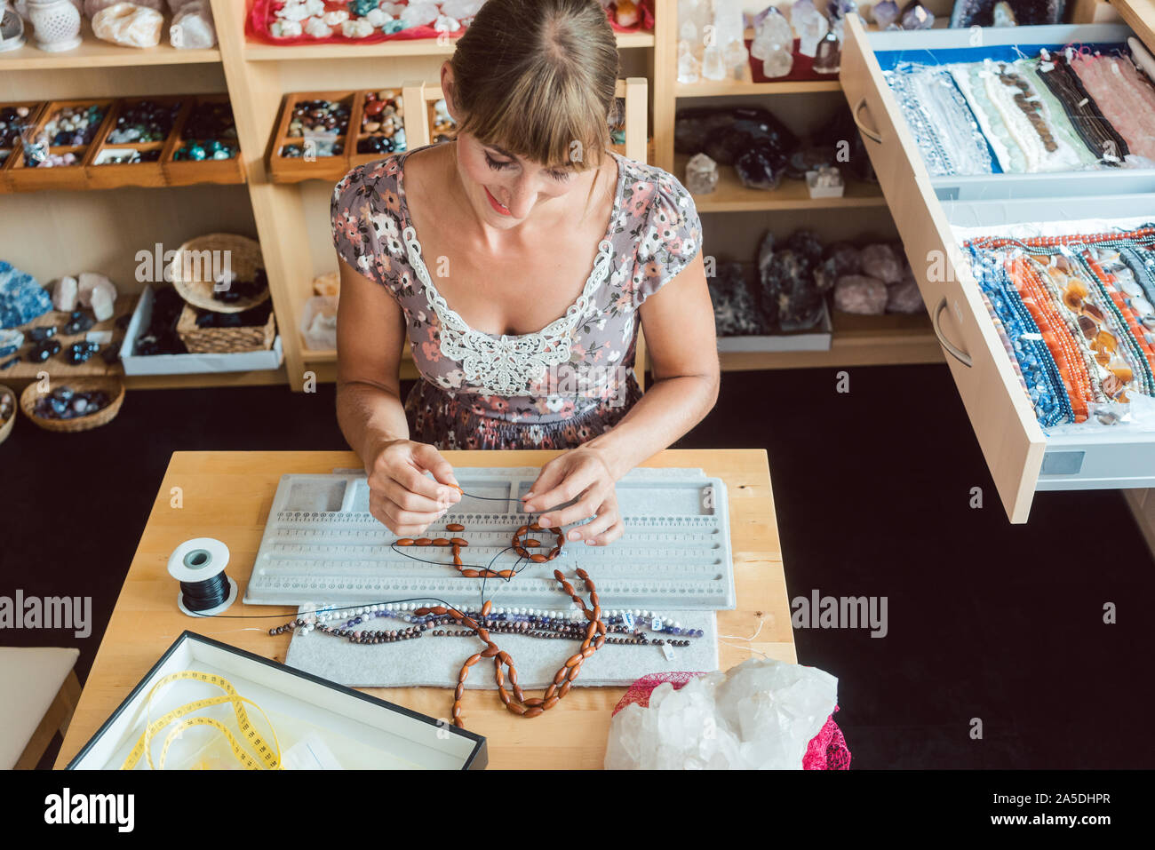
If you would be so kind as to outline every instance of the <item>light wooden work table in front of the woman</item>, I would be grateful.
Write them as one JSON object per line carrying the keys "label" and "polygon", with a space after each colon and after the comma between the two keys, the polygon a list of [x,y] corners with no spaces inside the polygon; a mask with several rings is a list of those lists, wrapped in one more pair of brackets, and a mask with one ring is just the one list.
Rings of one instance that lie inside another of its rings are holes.
{"label": "light wooden work table in front of the woman", "polygon": [[[557,454],[446,452],[445,456],[454,467],[539,467]],[[267,620],[192,620],[177,610],[177,582],[166,571],[169,556],[192,537],[222,540],[230,551],[226,572],[240,584],[240,596],[244,596],[281,476],[359,465],[357,456],[350,452],[174,453],[84,684],[57,767],[62,768],[72,760],[185,629],[283,661],[290,635],[270,638],[267,629],[289,620],[296,609],[246,606],[238,601],[228,614],[283,611],[284,616]],[[758,638],[752,642],[720,641],[722,669],[748,658],[751,649],[796,662],[766,452],[673,449],[655,455],[642,465],[701,468],[726,483],[738,606],[735,611],[718,612],[718,632],[739,636],[758,632]],[[173,487],[180,487],[179,508],[171,506]],[[444,716],[453,700],[448,688],[363,689],[433,717]],[[468,691],[463,716],[468,729],[489,739],[492,768],[601,768],[610,714],[624,693],[625,688],[620,687],[575,687],[557,709],[527,721],[506,711],[495,692]]]}

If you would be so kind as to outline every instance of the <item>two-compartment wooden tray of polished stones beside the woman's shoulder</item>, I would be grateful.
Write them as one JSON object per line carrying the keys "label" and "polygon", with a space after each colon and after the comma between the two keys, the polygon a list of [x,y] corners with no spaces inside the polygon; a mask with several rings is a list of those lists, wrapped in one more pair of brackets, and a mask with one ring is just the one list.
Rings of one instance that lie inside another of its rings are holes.
{"label": "two-compartment wooden tray of polished stones beside the woman's shoulder", "polygon": [[268,150],[275,182],[338,180],[355,165],[405,150],[400,89],[285,95]]}

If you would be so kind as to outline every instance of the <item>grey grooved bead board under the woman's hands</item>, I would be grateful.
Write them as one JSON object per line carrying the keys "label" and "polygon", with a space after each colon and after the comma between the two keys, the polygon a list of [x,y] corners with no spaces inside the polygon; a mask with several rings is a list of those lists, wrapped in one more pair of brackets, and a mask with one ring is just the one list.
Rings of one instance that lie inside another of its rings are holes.
{"label": "grey grooved bead board under the woman's hands", "polygon": [[[455,474],[467,493],[521,497],[539,469],[462,467]],[[465,579],[449,549],[407,552],[438,564],[422,564],[394,551],[396,535],[368,513],[365,476],[282,476],[264,535],[245,590],[255,605],[301,605],[318,598],[333,604],[367,605],[429,599],[456,606],[485,598],[498,607],[566,609],[572,603],[553,577],[560,569],[579,592],[579,567],[589,572],[602,607],[650,611],[721,610],[735,606],[733,562],[725,483],[700,469],[633,469],[617,483],[625,534],[609,546],[568,543],[545,564],[528,564],[512,581]],[[532,517],[505,513],[506,504],[464,497],[431,524],[431,538],[464,535],[467,565],[486,566],[509,546],[514,530]],[[446,524],[460,522],[463,532]],[[549,534],[545,540],[549,539]],[[542,535],[538,535],[542,537]],[[512,568],[517,557],[504,552],[494,569]]]}

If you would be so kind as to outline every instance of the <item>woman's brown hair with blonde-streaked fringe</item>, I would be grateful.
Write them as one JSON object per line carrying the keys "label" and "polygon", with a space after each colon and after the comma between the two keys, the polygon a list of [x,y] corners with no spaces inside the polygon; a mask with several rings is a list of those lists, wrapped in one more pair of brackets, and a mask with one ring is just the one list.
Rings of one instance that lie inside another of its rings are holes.
{"label": "woman's brown hair with blonde-streaked fringe", "polygon": [[598,0],[486,0],[449,62],[459,132],[543,165],[601,163],[618,44]]}

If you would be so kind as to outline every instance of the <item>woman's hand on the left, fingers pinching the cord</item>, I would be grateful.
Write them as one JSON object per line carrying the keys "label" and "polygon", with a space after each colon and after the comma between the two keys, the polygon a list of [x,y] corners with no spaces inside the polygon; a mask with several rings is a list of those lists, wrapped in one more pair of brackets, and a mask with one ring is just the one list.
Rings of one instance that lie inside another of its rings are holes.
{"label": "woman's hand on the left, fingers pinching the cord", "polygon": [[[432,472],[432,480],[425,472]],[[398,537],[419,537],[461,501],[453,467],[433,446],[389,440],[365,462],[368,512]]]}

